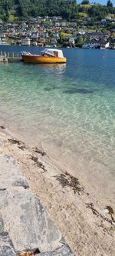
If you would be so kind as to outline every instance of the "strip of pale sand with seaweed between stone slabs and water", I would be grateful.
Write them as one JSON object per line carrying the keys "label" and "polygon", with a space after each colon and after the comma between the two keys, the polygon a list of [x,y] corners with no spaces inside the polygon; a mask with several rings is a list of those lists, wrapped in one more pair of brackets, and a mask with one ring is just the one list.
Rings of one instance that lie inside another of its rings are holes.
{"label": "strip of pale sand with seaweed between stone slabs and water", "polygon": [[61,159],[53,161],[47,154],[48,146],[31,148],[20,138],[15,138],[7,128],[0,130],[0,153],[15,158],[31,191],[40,198],[74,254],[113,255],[113,200],[104,194],[101,197],[100,192],[97,194],[80,171],[74,175],[72,163],[71,168],[65,171],[66,165],[62,165]]}

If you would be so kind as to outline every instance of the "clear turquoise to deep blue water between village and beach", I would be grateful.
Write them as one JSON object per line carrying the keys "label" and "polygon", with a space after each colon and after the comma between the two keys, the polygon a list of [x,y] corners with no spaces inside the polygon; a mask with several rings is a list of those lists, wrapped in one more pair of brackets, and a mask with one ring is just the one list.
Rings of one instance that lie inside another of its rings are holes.
{"label": "clear turquoise to deep blue water between village and beach", "polygon": [[63,65],[0,65],[2,124],[33,145],[54,140],[83,161],[100,161],[112,180],[115,51],[67,48],[64,55]]}

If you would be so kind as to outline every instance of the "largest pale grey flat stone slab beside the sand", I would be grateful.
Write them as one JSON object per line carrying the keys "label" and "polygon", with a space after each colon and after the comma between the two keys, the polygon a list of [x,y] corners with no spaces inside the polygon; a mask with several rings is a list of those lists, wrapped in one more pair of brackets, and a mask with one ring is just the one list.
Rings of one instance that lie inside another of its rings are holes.
{"label": "largest pale grey flat stone slab beside the sand", "polygon": [[24,188],[0,191],[0,208],[16,251],[39,248],[42,252],[61,246],[61,232],[30,191]]}

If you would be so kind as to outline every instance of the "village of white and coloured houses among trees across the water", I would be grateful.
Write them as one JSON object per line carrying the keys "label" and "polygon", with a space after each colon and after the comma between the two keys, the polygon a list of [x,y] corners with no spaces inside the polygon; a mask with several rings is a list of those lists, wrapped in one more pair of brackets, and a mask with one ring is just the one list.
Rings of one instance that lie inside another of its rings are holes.
{"label": "village of white and coloured houses among trees across the water", "polygon": [[70,20],[48,15],[8,22],[0,19],[0,45],[115,49],[115,14],[95,24],[84,13]]}

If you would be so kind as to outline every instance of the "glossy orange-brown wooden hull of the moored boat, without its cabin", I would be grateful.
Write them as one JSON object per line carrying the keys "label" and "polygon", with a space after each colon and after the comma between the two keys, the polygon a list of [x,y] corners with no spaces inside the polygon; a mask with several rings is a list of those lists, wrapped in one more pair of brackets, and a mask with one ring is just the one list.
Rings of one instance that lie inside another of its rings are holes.
{"label": "glossy orange-brown wooden hull of the moored boat, without its cabin", "polygon": [[42,55],[21,55],[23,62],[31,63],[65,63],[66,58],[49,57]]}

